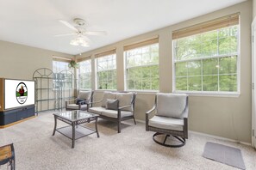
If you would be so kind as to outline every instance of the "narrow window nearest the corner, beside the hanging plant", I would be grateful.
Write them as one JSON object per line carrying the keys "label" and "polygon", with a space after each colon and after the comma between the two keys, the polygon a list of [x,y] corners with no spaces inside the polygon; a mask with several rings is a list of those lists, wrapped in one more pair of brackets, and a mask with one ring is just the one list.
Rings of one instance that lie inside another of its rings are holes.
{"label": "narrow window nearest the corner, beside the hanging plant", "polygon": [[79,62],[79,88],[91,89],[91,59]]}

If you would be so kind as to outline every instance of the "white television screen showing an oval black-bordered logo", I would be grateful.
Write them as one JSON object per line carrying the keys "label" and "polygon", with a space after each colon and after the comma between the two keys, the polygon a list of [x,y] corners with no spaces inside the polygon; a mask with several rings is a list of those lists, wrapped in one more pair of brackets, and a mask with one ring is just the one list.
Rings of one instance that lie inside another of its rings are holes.
{"label": "white television screen showing an oval black-bordered logo", "polygon": [[4,79],[4,109],[34,105],[34,81]]}

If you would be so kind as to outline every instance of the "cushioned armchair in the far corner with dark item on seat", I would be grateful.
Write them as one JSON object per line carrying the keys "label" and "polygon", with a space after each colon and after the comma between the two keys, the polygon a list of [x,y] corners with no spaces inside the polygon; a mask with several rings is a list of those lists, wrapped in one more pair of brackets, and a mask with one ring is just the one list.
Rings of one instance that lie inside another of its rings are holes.
{"label": "cushioned armchair in the far corner with dark item on seat", "polygon": [[78,98],[66,100],[66,110],[87,110],[87,103],[91,102],[93,91],[80,91]]}

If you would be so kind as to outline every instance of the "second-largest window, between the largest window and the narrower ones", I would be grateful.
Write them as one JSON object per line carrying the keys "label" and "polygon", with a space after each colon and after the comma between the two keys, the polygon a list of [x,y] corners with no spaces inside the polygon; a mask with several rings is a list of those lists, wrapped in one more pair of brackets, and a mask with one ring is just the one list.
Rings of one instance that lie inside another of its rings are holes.
{"label": "second-largest window, between the largest window and the narrower ones", "polygon": [[150,45],[139,45],[140,47],[131,50],[126,50],[128,47],[125,47],[126,88],[128,90],[159,90],[158,39],[151,40],[148,44]]}

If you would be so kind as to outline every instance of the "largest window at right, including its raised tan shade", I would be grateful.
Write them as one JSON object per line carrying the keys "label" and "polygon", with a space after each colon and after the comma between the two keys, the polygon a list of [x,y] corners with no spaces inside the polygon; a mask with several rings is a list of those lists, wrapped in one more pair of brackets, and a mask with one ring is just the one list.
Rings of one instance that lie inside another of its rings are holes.
{"label": "largest window at right, including its raised tan shade", "polygon": [[239,15],[187,28],[172,37],[175,91],[239,92]]}

